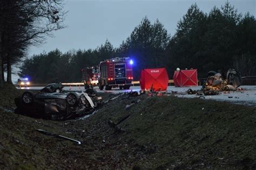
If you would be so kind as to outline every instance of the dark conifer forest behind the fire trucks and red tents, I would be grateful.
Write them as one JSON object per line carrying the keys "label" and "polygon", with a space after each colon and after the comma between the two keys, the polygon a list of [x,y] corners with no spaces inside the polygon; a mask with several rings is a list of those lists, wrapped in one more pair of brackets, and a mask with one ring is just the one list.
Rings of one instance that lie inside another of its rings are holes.
{"label": "dark conifer forest behind the fire trucks and red tents", "polygon": [[192,4],[177,23],[176,33],[169,35],[158,19],[151,23],[144,17],[119,47],[109,40],[96,49],[60,52],[58,49],[26,58],[19,76],[29,76],[37,83],[81,81],[81,70],[113,57],[134,60],[134,79],[140,70],[165,67],[172,78],[174,70],[198,69],[204,78],[211,70],[234,68],[242,76],[256,75],[256,20],[242,15],[229,2],[214,6],[209,13]]}

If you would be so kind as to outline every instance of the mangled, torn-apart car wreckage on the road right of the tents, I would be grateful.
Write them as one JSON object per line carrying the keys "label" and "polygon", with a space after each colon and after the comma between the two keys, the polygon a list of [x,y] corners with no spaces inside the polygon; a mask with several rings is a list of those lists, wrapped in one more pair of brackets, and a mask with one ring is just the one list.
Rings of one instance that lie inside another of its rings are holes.
{"label": "mangled, torn-apart car wreckage on the road right of the tents", "polygon": [[226,76],[221,71],[210,71],[201,90],[205,95],[212,95],[213,91],[236,90],[241,84],[241,74],[234,69],[228,70]]}

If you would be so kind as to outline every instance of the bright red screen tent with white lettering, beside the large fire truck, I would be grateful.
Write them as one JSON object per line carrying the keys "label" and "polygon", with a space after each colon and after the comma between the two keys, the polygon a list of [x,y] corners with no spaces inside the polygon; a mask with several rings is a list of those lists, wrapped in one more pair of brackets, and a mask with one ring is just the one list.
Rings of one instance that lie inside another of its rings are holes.
{"label": "bright red screen tent with white lettering, beside the large fire truck", "polygon": [[149,90],[153,85],[153,91],[166,91],[168,80],[169,78],[165,68],[143,69],[140,72],[140,88],[142,90]]}

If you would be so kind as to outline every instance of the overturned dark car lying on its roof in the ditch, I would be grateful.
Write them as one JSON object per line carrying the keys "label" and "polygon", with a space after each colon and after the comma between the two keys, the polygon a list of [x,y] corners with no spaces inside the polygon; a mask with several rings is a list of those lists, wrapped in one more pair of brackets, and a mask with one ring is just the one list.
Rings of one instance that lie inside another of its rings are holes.
{"label": "overturned dark car lying on its roof in the ditch", "polygon": [[15,98],[16,113],[65,120],[90,114],[102,103],[102,98],[97,97],[95,90],[89,90],[87,93],[86,91],[48,92],[48,86],[38,93],[26,91],[22,96]]}

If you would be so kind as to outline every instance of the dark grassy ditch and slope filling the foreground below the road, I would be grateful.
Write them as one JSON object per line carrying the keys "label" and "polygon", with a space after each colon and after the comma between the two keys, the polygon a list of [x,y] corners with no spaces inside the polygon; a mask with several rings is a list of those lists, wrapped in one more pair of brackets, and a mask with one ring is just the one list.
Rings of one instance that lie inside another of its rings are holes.
{"label": "dark grassy ditch and slope filling the foreground below the road", "polygon": [[13,113],[21,93],[1,92],[9,102],[0,107],[0,169],[256,168],[254,106],[103,93],[113,100],[91,117],[52,121]]}

